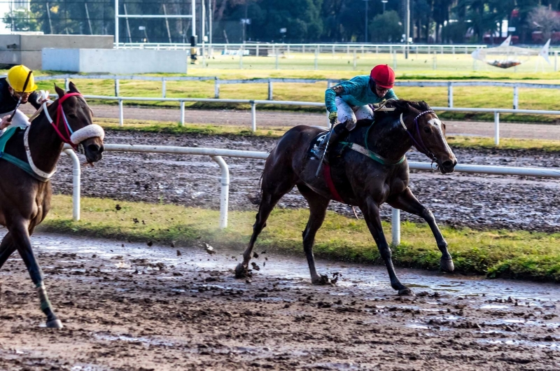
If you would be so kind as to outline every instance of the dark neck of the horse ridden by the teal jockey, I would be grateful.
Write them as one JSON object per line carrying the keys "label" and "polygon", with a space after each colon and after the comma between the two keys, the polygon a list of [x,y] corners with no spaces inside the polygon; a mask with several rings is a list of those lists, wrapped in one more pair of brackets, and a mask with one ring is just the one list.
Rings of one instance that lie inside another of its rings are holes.
{"label": "dark neck of the horse ridden by the teal jockey", "polygon": [[[391,117],[384,117],[381,120],[373,123],[369,132],[368,127],[361,127],[356,130],[354,139],[356,143],[365,146],[367,140],[367,147],[370,151],[377,153],[387,160],[399,160],[404,156],[407,151],[412,147],[412,141],[405,132],[405,129],[400,125],[400,119]],[[365,138],[367,133],[367,138]]]}

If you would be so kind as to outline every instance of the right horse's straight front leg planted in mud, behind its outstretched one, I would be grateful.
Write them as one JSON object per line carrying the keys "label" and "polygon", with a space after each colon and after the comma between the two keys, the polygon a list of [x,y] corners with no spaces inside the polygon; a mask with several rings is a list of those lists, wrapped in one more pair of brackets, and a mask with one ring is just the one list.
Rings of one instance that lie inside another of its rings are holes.
{"label": "right horse's straight front leg planted in mud, behind its outstretched one", "polygon": [[387,244],[383,228],[381,227],[379,206],[376,202],[374,202],[374,200],[372,200],[371,197],[367,197],[365,203],[360,206],[360,210],[364,216],[365,223],[367,223],[367,228],[369,228],[370,233],[377,244],[377,248],[379,248],[381,258],[383,258],[383,261],[385,262],[389,279],[391,279],[391,287],[398,290],[399,295],[414,295],[412,290],[400,283],[397,278],[397,274],[395,273],[395,267],[393,267],[393,260],[391,259],[391,248],[389,248],[389,244]]}

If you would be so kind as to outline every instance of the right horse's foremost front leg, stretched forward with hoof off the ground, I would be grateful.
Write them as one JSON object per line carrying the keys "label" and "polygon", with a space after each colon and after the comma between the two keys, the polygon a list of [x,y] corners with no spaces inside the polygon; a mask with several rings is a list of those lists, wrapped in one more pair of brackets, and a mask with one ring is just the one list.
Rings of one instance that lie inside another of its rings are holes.
{"label": "right horse's foremost front leg, stretched forward with hoof off the ground", "polygon": [[445,239],[443,238],[440,228],[437,227],[437,223],[435,223],[435,218],[433,217],[432,211],[430,211],[430,209],[428,209],[427,207],[424,207],[423,204],[416,200],[416,197],[412,195],[410,188],[406,188],[399,195],[391,197],[387,201],[387,203],[395,209],[401,209],[402,211],[406,211],[407,213],[420,216],[428,223],[435,237],[435,241],[437,242],[437,248],[439,248],[442,252],[440,267],[446,272],[453,272],[455,266],[453,264],[451,254],[447,250],[447,241],[445,241]]}

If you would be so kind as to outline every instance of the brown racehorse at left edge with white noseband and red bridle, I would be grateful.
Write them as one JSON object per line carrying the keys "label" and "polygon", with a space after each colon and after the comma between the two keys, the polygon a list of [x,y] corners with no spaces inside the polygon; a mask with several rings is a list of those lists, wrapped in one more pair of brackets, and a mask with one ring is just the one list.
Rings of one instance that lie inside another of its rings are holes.
{"label": "brown racehorse at left edge with white noseband and red bridle", "polygon": [[62,323],[48,300],[29,236],[50,209],[49,179],[64,143],[79,149],[90,163],[101,160],[104,151],[103,129],[92,124],[90,107],[76,85],[70,83],[69,87],[66,93],[55,85],[58,99],[50,106],[43,104],[31,125],[13,134],[0,160],[0,224],[8,228],[0,244],[0,267],[18,250],[36,286],[48,328],[62,328]]}

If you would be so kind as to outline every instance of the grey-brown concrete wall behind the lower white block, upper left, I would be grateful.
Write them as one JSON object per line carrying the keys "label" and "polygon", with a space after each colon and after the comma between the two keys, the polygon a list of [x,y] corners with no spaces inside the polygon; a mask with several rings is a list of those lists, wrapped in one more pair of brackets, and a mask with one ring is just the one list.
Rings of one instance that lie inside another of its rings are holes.
{"label": "grey-brown concrete wall behind the lower white block, upper left", "polygon": [[113,48],[113,36],[103,35],[0,35],[0,64],[25,64],[41,69],[43,48]]}

